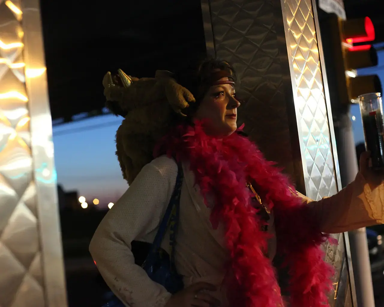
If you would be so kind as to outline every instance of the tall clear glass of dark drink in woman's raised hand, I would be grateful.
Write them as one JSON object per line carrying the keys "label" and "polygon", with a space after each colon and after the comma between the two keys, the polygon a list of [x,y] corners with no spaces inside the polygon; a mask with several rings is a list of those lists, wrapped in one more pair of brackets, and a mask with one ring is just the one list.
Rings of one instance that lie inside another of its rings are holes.
{"label": "tall clear glass of dark drink in woman's raised hand", "polygon": [[371,152],[372,167],[384,168],[384,125],[380,93],[359,96],[366,149]]}

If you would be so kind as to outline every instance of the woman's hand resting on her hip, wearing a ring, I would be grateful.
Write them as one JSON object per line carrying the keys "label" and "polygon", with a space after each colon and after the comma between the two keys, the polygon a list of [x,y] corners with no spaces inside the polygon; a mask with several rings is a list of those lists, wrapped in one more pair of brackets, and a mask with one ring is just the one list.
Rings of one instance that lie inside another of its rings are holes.
{"label": "woman's hand resting on her hip, wearing a ring", "polygon": [[203,290],[216,291],[214,285],[197,282],[172,295],[164,307],[218,307],[220,301]]}

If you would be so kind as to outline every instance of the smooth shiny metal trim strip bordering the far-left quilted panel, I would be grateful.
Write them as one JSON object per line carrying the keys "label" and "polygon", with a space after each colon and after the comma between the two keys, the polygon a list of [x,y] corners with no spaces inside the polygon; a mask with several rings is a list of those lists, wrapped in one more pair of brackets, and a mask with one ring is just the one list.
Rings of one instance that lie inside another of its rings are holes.
{"label": "smooth shiny metal trim strip bordering the far-left quilted panel", "polygon": [[[46,79],[39,0],[22,0],[25,84],[29,99],[33,176],[43,259],[45,305],[67,306],[56,169],[53,155],[52,119]],[[35,267],[33,267],[35,269]],[[35,271],[34,271],[35,272]],[[35,284],[28,282],[31,287]],[[22,298],[18,302],[23,302]]]}

